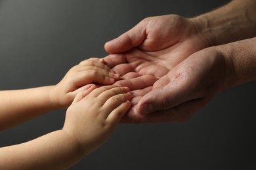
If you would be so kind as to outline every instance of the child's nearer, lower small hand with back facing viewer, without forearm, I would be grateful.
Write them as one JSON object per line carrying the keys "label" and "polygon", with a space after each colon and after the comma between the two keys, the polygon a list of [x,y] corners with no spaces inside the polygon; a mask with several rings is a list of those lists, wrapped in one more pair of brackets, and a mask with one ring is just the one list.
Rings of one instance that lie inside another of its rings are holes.
{"label": "child's nearer, lower small hand with back facing viewer, without forearm", "polygon": [[63,127],[87,152],[92,152],[110,137],[131,107],[129,88],[102,86],[94,89],[95,86],[91,86],[77,94],[67,110]]}

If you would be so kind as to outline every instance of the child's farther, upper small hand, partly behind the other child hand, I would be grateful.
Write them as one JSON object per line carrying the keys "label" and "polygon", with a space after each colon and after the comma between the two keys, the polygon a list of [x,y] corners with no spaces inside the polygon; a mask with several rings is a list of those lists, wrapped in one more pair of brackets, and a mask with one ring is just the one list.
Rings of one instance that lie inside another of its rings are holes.
{"label": "child's farther, upper small hand, partly behind the other child hand", "polygon": [[68,107],[75,95],[87,88],[87,84],[110,85],[118,78],[119,74],[111,71],[104,64],[104,59],[90,58],[81,61],[66,73],[64,78],[54,86],[51,99],[59,107]]}

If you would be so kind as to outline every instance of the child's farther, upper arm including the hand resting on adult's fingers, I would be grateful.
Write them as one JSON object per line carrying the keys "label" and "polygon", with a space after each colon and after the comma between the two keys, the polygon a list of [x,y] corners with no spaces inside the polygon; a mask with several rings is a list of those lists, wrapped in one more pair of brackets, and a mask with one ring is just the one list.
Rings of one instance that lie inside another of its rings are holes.
{"label": "child's farther, upper arm including the hand resting on adult's fingers", "polygon": [[87,84],[113,84],[119,75],[103,62],[96,58],[81,61],[55,86],[0,91],[0,131],[45,112],[67,108],[78,92],[88,88]]}

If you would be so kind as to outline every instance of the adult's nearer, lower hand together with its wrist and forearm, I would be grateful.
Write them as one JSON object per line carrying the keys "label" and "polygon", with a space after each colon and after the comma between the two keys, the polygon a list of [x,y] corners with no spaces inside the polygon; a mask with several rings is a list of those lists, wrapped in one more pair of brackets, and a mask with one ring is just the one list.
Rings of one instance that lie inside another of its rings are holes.
{"label": "adult's nearer, lower hand together with its wrist and forearm", "polygon": [[161,76],[123,122],[184,122],[222,90],[256,80],[255,44],[256,37],[195,52]]}

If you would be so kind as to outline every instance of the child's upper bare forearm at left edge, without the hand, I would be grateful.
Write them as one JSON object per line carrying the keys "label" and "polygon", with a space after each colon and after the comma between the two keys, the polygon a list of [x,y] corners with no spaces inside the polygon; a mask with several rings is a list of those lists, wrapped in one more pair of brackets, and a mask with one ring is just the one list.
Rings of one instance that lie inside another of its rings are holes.
{"label": "child's upper bare forearm at left edge, without the hand", "polygon": [[51,99],[53,86],[0,92],[0,130],[15,126],[49,110],[58,109]]}

